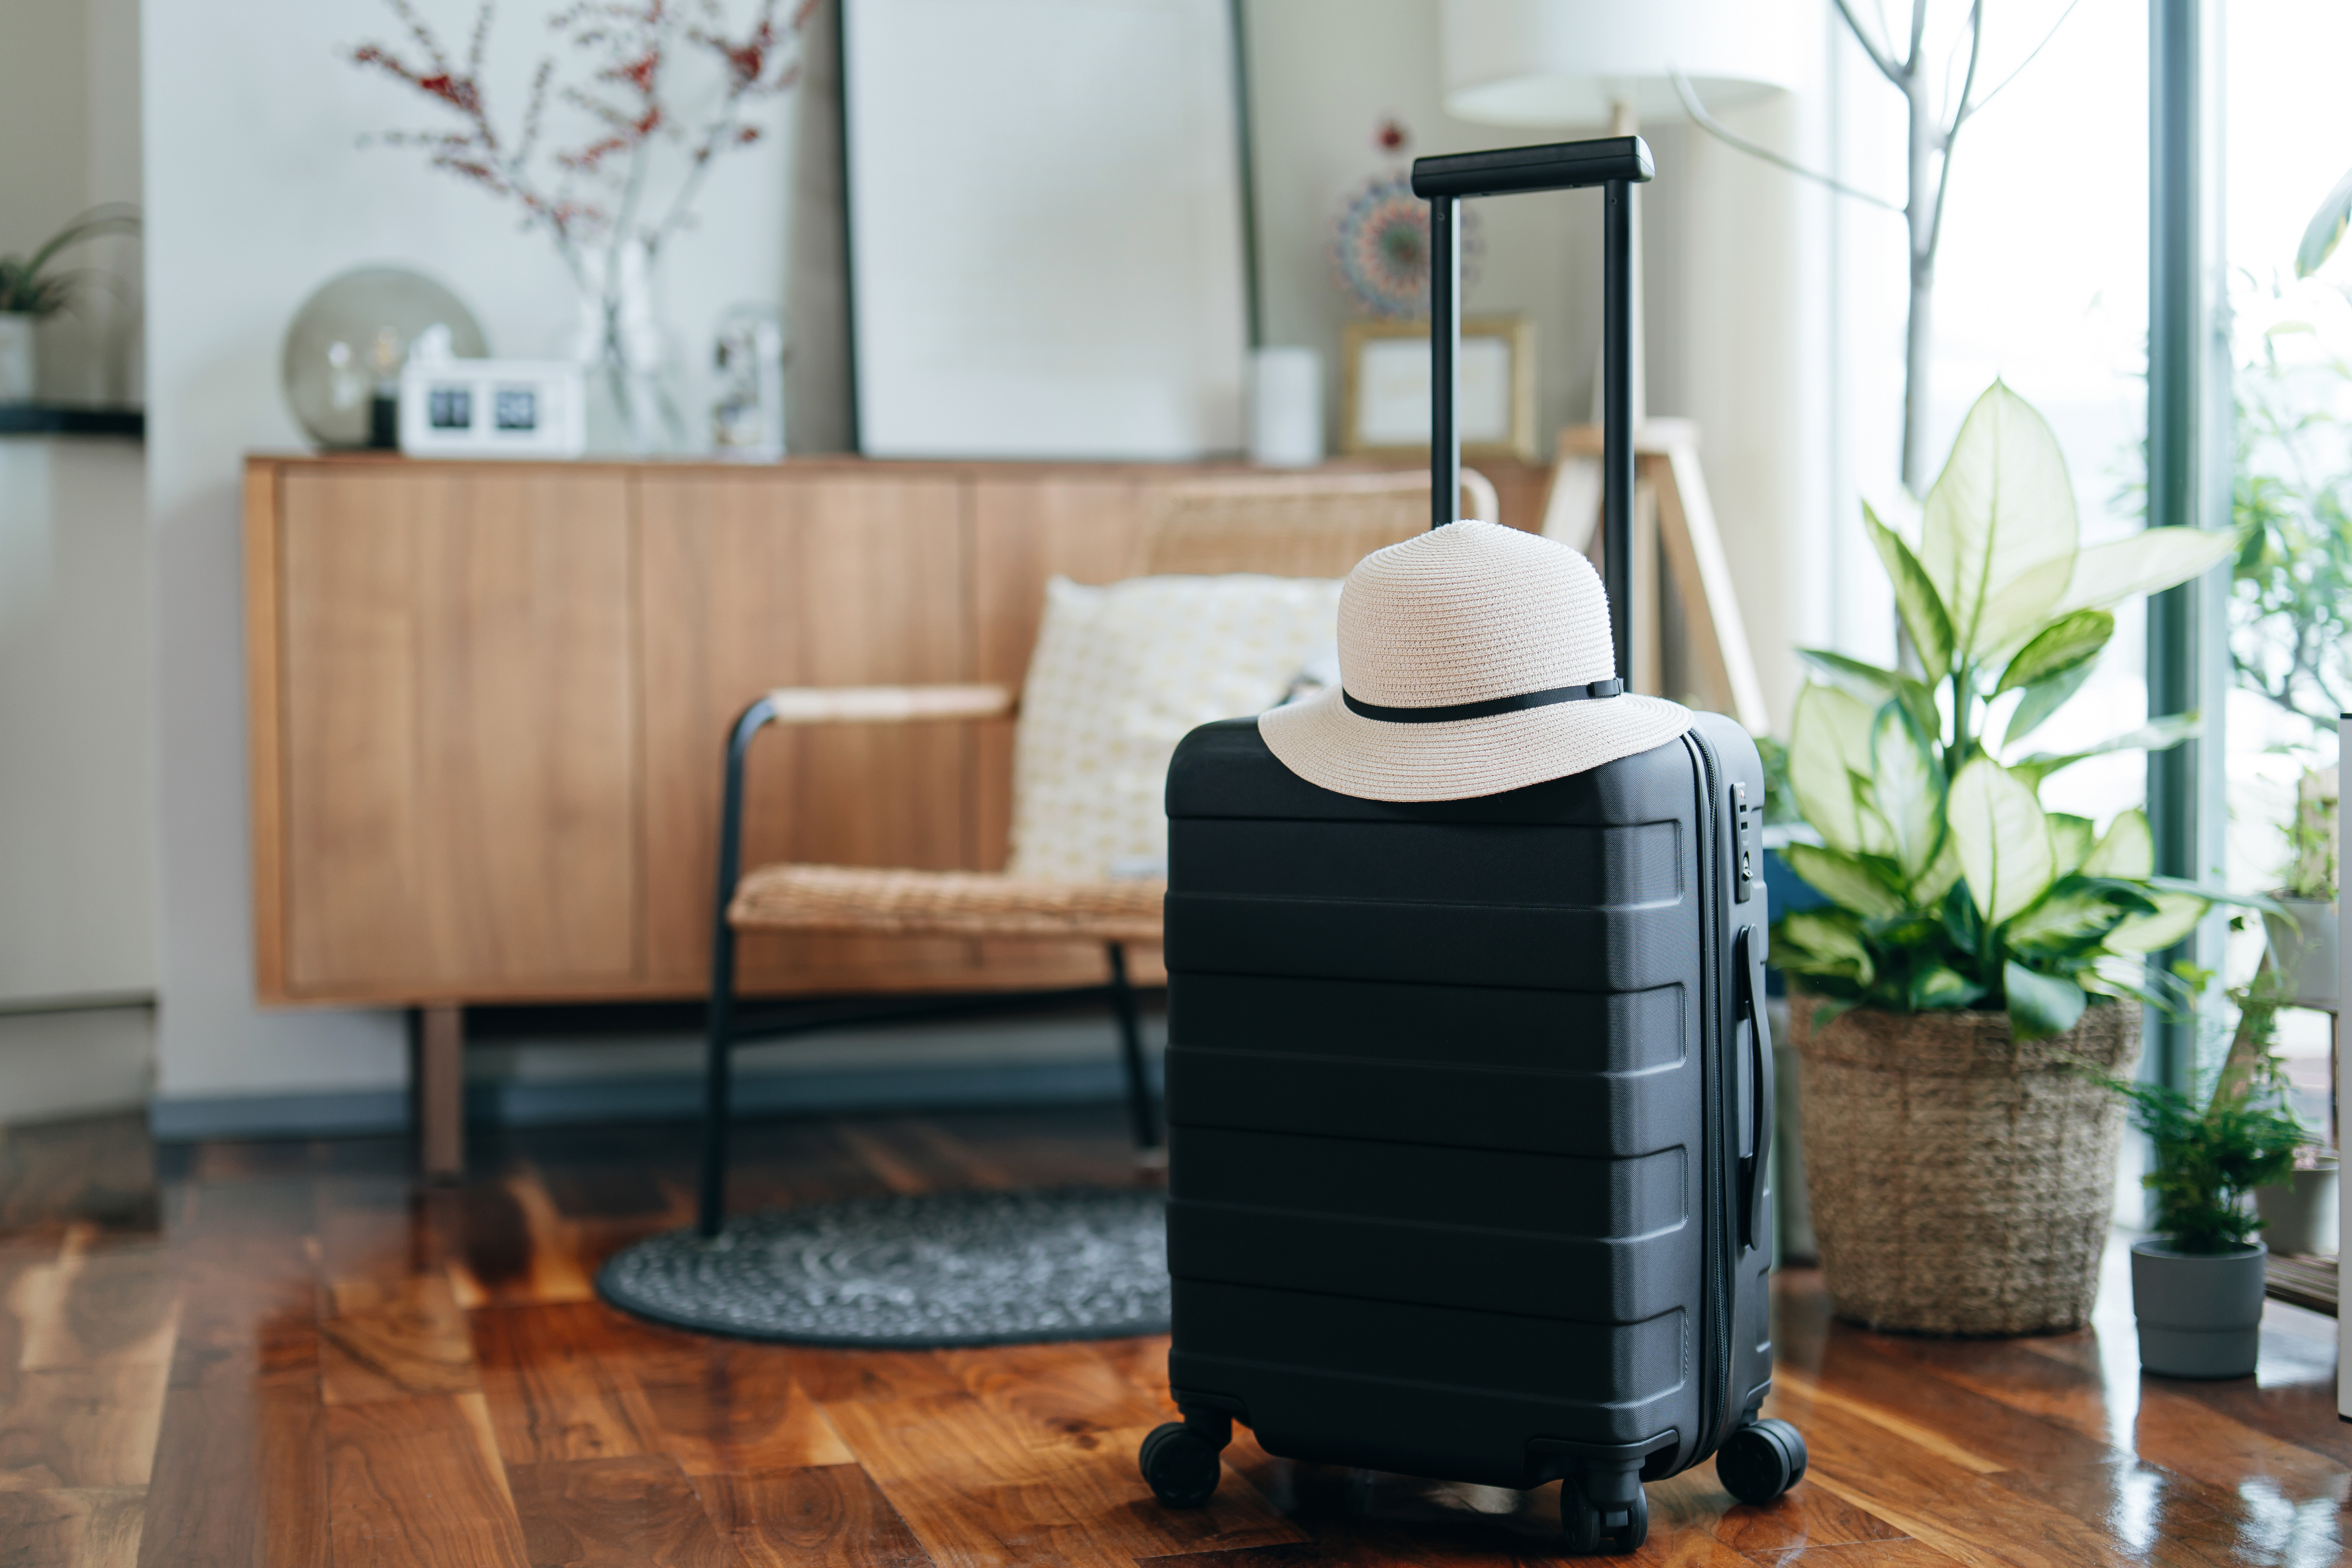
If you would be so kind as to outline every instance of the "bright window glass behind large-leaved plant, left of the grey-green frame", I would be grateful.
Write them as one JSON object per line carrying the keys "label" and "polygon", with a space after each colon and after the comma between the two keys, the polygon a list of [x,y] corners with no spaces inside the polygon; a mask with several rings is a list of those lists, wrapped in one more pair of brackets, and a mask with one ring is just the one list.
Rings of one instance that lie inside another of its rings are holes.
{"label": "bright window glass behind large-leaved plant, left of the grey-green frame", "polygon": [[[1907,7],[1905,7],[1907,9]],[[1867,19],[1875,12],[1858,7]],[[1962,38],[1964,9],[1933,12],[1931,40]],[[2060,21],[2063,19],[2063,21]],[[2053,31],[2056,28],[2056,31]],[[2039,54],[2039,40],[2049,38]],[[2027,59],[2030,56],[2030,59]],[[1952,73],[1959,82],[1962,56]],[[1976,397],[1999,376],[2058,435],[2074,480],[2082,543],[2140,529],[2147,430],[2147,5],[2032,0],[1987,7],[1980,82],[2009,82],[1955,139],[1936,256],[1929,355],[1929,473]],[[1839,174],[1900,200],[1903,101],[1842,40]],[[1898,496],[1903,433],[1903,219],[1842,202],[1839,418],[1846,484],[1872,505]],[[1851,284],[1849,284],[1851,280]],[[1849,503],[1851,510],[1851,503]],[[1839,529],[1839,555],[1867,557]],[[1846,562],[1842,559],[1842,567]],[[1860,576],[1875,576],[1875,557]],[[1853,576],[1842,571],[1844,581]],[[1863,658],[1891,654],[1851,646]],[[1858,642],[1846,637],[1846,642]],[[2098,672],[2018,748],[2070,750],[2147,715],[2145,616],[2117,614]],[[2096,757],[2044,785],[2053,811],[2100,823],[2147,792],[2138,752]]]}

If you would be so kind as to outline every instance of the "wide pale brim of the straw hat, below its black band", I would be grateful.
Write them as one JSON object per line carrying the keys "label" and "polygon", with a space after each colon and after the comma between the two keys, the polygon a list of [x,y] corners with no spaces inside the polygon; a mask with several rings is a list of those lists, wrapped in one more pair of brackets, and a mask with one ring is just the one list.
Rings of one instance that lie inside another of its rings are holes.
{"label": "wide pale brim of the straw hat, below its black band", "polygon": [[1552,703],[1442,724],[1367,719],[1331,686],[1258,715],[1265,748],[1308,783],[1357,799],[1501,795],[1665,745],[1691,710],[1658,696]]}

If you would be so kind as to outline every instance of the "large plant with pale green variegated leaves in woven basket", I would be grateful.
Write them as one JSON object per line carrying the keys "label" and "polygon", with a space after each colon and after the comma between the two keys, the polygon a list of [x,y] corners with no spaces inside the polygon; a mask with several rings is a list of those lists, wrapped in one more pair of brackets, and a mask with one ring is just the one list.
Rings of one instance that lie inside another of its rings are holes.
{"label": "large plant with pale green variegated leaves in woven basket", "polygon": [[1783,853],[1830,907],[1773,926],[1825,1284],[1842,1316],[1879,1328],[2074,1328],[2122,1138],[2119,1100],[2079,1065],[2138,1058],[2138,1004],[2173,999],[2145,954],[2209,893],[2152,875],[2140,811],[2100,827],[2039,790],[2194,722],[2020,752],[2089,679],[2114,607],[2197,576],[2232,538],[2152,529],[2082,548],[2058,442],[2002,383],[1969,411],[1917,545],[1865,527],[1924,672],[1804,654],[1816,682],[1797,698],[1790,792],[1820,844]]}

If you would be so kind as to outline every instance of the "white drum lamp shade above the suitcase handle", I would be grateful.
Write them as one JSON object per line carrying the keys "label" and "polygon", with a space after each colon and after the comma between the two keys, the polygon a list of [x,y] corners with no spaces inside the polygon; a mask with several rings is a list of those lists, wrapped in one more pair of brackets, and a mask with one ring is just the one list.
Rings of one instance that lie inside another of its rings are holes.
{"label": "white drum lamp shade above the suitcase handle", "polygon": [[1613,103],[1679,120],[1799,82],[1790,0],[1444,0],[1446,113],[1482,125],[1606,125]]}

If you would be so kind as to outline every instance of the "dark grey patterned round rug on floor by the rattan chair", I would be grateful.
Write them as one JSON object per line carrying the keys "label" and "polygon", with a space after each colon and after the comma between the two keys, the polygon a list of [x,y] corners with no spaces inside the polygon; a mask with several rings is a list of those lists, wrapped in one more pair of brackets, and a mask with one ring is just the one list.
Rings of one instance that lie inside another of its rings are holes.
{"label": "dark grey patterned round rug on floor by the rattan chair", "polygon": [[1021,1345],[1169,1328],[1167,1199],[1148,1187],[929,1192],[668,1232],[597,1274],[614,1307],[797,1345]]}

